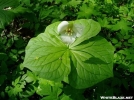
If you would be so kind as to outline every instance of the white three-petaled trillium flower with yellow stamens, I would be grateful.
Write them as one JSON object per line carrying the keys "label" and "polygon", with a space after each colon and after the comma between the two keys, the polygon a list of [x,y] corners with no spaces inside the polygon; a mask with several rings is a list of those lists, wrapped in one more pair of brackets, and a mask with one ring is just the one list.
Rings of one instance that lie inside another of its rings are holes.
{"label": "white three-petaled trillium flower with yellow stamens", "polygon": [[73,23],[68,21],[62,21],[57,28],[60,34],[61,40],[66,44],[71,44],[77,37],[82,35],[82,29]]}

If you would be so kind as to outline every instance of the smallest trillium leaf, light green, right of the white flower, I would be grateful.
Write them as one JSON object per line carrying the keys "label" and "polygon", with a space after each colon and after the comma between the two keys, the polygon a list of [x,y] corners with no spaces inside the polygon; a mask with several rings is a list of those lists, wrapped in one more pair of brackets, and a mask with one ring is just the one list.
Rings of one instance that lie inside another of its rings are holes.
{"label": "smallest trillium leaf, light green, right of the white flower", "polygon": [[96,36],[99,31],[101,30],[101,27],[99,25],[99,23],[97,23],[96,21],[92,20],[92,19],[81,19],[81,20],[76,20],[74,22],[74,24],[77,25],[78,27],[78,31],[82,30],[82,36],[80,38],[77,38],[76,41],[70,46],[76,46],[78,44],[80,44],[81,42],[90,39],[91,37]]}

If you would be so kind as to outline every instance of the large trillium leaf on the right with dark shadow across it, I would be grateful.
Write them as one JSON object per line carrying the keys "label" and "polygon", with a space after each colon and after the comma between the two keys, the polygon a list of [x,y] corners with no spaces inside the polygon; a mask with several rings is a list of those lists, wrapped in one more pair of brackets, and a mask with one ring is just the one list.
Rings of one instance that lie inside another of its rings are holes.
{"label": "large trillium leaf on the right with dark shadow across it", "polygon": [[70,49],[73,87],[86,88],[113,76],[114,48],[104,38],[97,36]]}

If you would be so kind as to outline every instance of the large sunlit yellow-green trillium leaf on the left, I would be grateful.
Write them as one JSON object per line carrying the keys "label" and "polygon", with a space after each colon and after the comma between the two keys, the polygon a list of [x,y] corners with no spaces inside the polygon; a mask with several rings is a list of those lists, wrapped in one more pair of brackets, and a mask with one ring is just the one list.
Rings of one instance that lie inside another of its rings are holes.
{"label": "large sunlit yellow-green trillium leaf on the left", "polygon": [[70,73],[67,46],[50,33],[42,33],[30,40],[26,48],[24,66],[40,77],[60,81]]}

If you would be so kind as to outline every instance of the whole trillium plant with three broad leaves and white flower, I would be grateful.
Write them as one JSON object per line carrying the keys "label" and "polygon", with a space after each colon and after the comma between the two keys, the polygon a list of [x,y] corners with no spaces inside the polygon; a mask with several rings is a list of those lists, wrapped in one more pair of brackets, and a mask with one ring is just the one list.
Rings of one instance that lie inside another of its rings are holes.
{"label": "whole trillium plant with three broad leaves and white flower", "polygon": [[114,48],[100,30],[92,19],[53,23],[29,41],[23,66],[47,80],[91,87],[113,76]]}

